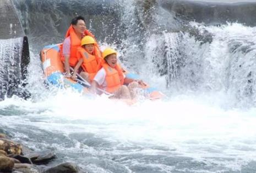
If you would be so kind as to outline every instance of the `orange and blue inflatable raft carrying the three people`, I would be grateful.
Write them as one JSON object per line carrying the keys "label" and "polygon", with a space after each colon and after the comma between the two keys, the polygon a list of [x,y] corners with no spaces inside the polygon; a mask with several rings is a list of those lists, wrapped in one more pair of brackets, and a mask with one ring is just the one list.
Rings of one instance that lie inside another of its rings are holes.
{"label": "orange and blue inflatable raft carrying the three people", "polygon": [[[47,45],[41,52],[41,61],[43,67],[43,73],[46,77],[46,82],[52,85],[56,85],[60,88],[72,88],[83,94],[89,93],[89,85],[81,80],[74,81],[73,79],[66,78],[64,73],[64,65],[61,61],[60,53],[61,44]],[[140,79],[137,74],[126,72],[126,77],[130,79]],[[146,84],[143,86],[143,90],[149,96],[150,100],[161,99],[164,97],[160,91]]]}

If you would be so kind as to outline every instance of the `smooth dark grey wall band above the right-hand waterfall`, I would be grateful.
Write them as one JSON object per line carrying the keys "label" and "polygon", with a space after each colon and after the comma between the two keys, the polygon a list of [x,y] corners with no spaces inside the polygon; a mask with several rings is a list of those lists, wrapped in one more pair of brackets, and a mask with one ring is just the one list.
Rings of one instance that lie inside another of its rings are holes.
{"label": "smooth dark grey wall band above the right-hand waterfall", "polygon": [[255,1],[159,1],[159,6],[187,21],[204,22],[208,25],[239,22],[254,26]]}

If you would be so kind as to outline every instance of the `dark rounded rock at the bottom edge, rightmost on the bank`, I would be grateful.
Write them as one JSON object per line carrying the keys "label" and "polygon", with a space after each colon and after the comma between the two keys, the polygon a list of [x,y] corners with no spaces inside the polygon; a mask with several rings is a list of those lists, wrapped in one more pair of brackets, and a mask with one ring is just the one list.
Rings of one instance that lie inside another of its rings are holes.
{"label": "dark rounded rock at the bottom edge, rightmost on the bank", "polygon": [[77,173],[79,171],[79,168],[77,165],[73,163],[62,163],[55,167],[49,168],[43,173]]}

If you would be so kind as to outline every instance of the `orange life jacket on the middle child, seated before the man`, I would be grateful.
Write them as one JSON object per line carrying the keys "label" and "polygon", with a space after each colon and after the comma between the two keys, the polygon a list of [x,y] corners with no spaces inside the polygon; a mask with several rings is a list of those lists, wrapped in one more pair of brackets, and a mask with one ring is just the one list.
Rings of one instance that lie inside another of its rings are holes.
{"label": "orange life jacket on the middle child, seated before the man", "polygon": [[83,64],[81,65],[85,72],[88,72],[89,79],[92,81],[97,72],[98,66],[103,61],[100,50],[95,46],[94,52],[89,54],[84,48],[79,47],[77,50],[77,57],[83,58]]}

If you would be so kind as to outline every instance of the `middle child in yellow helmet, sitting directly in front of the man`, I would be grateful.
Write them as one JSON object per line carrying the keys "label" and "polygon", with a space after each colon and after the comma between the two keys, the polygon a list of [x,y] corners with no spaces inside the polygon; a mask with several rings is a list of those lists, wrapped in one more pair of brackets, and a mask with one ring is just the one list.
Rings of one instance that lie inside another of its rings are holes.
{"label": "middle child in yellow helmet, sitting directly in front of the man", "polygon": [[83,71],[80,72],[80,76],[83,77],[88,82],[94,78],[97,67],[100,64],[102,57],[101,52],[95,46],[96,41],[91,36],[85,36],[81,40],[81,47],[77,50],[78,63],[74,67],[74,72],[72,75],[73,79],[77,78],[77,72],[80,67]]}

